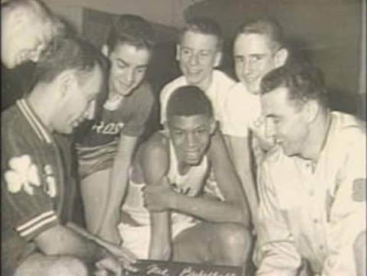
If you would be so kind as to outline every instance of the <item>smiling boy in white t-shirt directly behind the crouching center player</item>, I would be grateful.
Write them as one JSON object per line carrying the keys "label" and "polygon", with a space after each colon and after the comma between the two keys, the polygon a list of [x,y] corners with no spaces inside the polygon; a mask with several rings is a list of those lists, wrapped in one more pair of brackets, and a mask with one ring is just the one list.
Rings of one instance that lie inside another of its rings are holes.
{"label": "smiling boy in white t-shirt directly behind the crouching center player", "polygon": [[176,45],[176,60],[182,76],[172,80],[162,89],[161,124],[166,121],[166,105],[172,92],[181,86],[199,87],[212,101],[217,120],[222,114],[221,98],[235,82],[216,69],[222,59],[223,37],[217,22],[196,17],[188,20],[180,31]]}

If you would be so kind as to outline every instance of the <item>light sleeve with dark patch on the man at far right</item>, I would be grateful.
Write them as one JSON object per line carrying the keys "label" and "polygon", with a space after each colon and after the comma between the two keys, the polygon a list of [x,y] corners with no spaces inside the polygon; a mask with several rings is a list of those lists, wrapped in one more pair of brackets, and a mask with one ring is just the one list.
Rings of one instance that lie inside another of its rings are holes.
{"label": "light sleeve with dark patch on the man at far right", "polygon": [[[351,130],[343,166],[337,174],[334,201],[330,213],[330,252],[323,266],[324,276],[356,275],[353,244],[358,234],[366,231],[366,147],[365,136]],[[343,137],[341,138],[343,140]]]}

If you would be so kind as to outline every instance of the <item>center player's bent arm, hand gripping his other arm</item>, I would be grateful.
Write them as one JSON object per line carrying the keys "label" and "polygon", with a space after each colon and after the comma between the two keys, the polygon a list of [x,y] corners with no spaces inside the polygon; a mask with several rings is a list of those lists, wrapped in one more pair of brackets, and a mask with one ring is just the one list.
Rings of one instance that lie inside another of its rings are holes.
{"label": "center player's bent arm, hand gripping his other arm", "polygon": [[219,134],[213,137],[209,149],[216,179],[225,200],[209,197],[188,197],[174,192],[168,185],[147,187],[144,190],[147,207],[153,211],[175,209],[212,222],[233,222],[249,225],[249,212],[240,181],[232,168],[224,141]]}

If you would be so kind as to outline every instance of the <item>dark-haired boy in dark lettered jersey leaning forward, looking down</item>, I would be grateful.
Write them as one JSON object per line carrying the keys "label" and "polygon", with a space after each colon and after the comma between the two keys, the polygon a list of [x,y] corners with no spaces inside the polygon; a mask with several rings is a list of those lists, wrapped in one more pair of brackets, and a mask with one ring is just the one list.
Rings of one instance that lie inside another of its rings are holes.
{"label": "dark-haired boy in dark lettered jersey leaning forward, looking down", "polygon": [[107,100],[99,118],[77,137],[87,229],[113,243],[121,242],[117,224],[128,170],[154,104],[145,79],[154,45],[154,31],[142,17],[116,20],[102,47],[110,62]]}

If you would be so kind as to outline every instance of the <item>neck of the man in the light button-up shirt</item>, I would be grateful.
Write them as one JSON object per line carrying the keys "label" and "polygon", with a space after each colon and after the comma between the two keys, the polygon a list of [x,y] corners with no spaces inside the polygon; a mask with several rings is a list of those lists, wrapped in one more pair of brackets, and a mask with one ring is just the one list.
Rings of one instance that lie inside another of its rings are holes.
{"label": "neck of the man in the light button-up shirt", "polygon": [[307,137],[306,143],[307,150],[302,153],[302,157],[309,159],[313,162],[317,162],[320,153],[323,150],[331,123],[331,116],[328,111],[320,110],[317,118],[312,122],[309,135]]}

